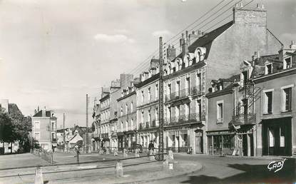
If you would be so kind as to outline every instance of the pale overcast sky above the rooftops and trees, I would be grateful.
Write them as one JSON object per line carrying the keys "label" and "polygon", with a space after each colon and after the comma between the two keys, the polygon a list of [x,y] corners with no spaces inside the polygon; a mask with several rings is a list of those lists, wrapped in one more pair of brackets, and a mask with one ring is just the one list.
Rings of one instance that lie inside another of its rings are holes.
{"label": "pale overcast sky above the rooftops and trees", "polygon": [[[66,126],[85,126],[86,93],[93,106],[101,86],[158,48],[158,36],[170,39],[219,2],[0,0],[0,98],[26,116],[46,106],[56,112],[58,127],[62,113]],[[284,44],[296,41],[296,1],[255,0],[249,6],[257,2],[267,9],[270,31]]]}

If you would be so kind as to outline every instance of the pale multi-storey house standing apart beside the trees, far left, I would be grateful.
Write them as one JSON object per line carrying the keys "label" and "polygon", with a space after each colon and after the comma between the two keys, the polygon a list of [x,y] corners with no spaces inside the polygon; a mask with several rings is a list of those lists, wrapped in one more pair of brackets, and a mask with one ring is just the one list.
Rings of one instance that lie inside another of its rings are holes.
{"label": "pale multi-storey house standing apart beside the trees, far left", "polygon": [[56,148],[56,123],[57,118],[53,116],[53,111],[46,111],[46,108],[36,111],[32,117],[32,137],[38,141],[41,148]]}

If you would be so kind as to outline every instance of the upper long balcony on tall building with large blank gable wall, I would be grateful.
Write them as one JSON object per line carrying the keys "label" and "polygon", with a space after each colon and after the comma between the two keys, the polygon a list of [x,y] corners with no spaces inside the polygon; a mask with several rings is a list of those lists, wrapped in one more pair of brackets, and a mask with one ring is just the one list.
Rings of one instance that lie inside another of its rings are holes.
{"label": "upper long balcony on tall building with large blank gable wall", "polygon": [[186,98],[188,96],[196,96],[203,95],[203,91],[201,91],[201,86],[194,86],[192,88],[183,88],[180,91],[175,91],[168,95],[165,95],[165,102],[175,101],[178,99]]}

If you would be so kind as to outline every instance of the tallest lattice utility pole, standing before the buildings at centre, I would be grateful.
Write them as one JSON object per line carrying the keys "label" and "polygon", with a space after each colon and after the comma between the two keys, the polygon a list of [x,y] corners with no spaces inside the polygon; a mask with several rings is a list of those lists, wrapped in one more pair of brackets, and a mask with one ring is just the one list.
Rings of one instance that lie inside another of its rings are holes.
{"label": "tallest lattice utility pole, standing before the buildings at centre", "polygon": [[159,37],[159,144],[158,154],[159,160],[163,160],[163,38]]}

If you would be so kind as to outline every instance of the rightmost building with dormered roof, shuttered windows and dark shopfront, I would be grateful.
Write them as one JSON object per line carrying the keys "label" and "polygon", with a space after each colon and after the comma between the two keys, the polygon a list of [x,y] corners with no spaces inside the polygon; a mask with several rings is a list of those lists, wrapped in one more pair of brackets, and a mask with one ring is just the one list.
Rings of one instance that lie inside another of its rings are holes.
{"label": "rightmost building with dormered roof, shuttered windows and dark shopfront", "polygon": [[257,112],[257,155],[296,154],[296,46],[282,48],[276,58],[255,61],[252,79],[260,90]]}

